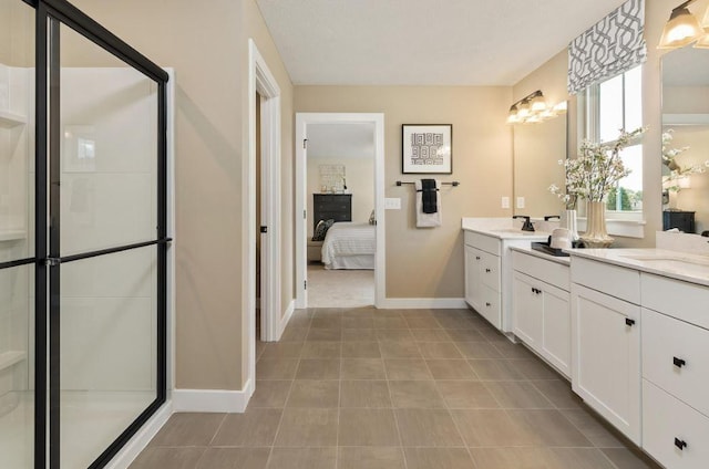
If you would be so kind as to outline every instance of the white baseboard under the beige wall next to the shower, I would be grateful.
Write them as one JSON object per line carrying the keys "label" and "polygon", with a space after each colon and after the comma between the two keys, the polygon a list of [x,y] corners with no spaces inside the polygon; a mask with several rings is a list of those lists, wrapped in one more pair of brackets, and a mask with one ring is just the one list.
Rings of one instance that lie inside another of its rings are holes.
{"label": "white baseboard under the beige wall next to the shower", "polygon": [[173,390],[173,411],[240,414],[246,410],[253,394],[251,379],[242,390],[175,389]]}

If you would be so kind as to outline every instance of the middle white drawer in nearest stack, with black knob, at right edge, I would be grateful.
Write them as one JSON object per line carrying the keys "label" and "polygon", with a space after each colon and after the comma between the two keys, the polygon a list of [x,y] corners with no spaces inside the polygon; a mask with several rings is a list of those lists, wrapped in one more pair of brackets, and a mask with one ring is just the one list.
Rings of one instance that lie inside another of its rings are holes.
{"label": "middle white drawer in nearest stack, with black knob, at right edge", "polygon": [[641,324],[643,377],[709,416],[709,331],[646,308]]}

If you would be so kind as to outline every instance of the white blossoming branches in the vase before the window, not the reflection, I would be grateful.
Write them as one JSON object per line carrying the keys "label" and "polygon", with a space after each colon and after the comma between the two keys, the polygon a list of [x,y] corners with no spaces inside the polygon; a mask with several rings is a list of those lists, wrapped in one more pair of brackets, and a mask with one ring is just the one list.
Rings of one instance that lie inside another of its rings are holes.
{"label": "white blossoming branches in the vase before the window, not the reflection", "polygon": [[558,161],[566,169],[566,194],[554,184],[548,190],[565,204],[567,210],[576,209],[579,198],[592,202],[605,201],[618,181],[630,174],[630,169],[623,164],[620,150],[645,131],[645,127],[633,132],[620,131],[618,139],[610,145],[584,139],[576,158]]}

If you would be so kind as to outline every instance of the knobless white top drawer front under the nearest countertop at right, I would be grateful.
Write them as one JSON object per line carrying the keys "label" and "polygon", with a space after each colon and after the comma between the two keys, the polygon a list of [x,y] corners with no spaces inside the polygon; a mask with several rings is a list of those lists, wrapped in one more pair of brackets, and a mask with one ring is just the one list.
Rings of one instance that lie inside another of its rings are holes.
{"label": "knobless white top drawer front under the nearest countertop at right", "polygon": [[651,273],[640,283],[643,306],[709,329],[709,288]]}

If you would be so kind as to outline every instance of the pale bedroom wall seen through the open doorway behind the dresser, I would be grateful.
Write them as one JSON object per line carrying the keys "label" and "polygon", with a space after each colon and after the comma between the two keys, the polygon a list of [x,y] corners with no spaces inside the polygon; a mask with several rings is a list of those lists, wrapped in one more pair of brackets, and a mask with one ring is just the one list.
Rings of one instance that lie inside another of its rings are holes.
{"label": "pale bedroom wall seen through the open doorway behind the dresser", "polygon": [[[308,238],[312,237],[312,195],[320,192],[320,165],[343,165],[347,188],[352,194],[352,221],[366,223],[374,209],[374,158],[308,157]],[[316,220],[317,221],[317,220]]]}

